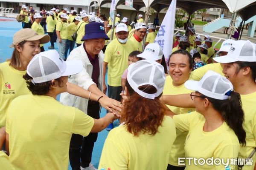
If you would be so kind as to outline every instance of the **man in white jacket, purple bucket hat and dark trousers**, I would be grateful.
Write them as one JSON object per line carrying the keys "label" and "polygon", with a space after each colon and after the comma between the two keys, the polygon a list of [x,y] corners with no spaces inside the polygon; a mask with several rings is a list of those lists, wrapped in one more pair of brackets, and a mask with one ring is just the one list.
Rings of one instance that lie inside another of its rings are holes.
{"label": "man in white jacket, purple bucket hat and dark trousers", "polygon": [[[105,45],[105,40],[109,40],[109,38],[105,34],[102,23],[89,23],[85,26],[85,30],[85,35],[81,39],[84,43],[73,49],[67,58],[67,61],[81,60],[84,68],[79,74],[72,75],[68,81],[84,89],[88,89],[96,95],[108,98],[101,90],[102,62],[104,59],[102,49]],[[61,94],[60,101],[62,104],[76,107],[91,117],[99,119],[99,103],[91,101],[90,95],[89,100],[87,100],[75,95],[63,93]],[[69,157],[73,170],[96,170],[90,161],[97,135],[97,133],[90,133],[87,137],[76,134],[72,135]]]}

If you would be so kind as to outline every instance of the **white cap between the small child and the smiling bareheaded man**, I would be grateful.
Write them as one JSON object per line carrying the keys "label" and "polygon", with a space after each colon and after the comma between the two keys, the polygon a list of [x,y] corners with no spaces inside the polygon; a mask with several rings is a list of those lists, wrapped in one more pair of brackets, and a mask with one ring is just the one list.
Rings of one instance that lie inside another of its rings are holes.
{"label": "white cap between the small child and the smiling bareheaded man", "polygon": [[157,61],[163,58],[163,50],[157,43],[149,43],[143,53],[137,55],[137,57]]}

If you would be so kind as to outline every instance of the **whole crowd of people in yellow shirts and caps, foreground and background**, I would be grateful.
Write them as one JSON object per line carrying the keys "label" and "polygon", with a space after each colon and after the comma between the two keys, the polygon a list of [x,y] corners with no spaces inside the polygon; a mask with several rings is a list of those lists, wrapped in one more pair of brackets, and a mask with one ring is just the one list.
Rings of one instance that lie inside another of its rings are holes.
{"label": "whole crowd of people in yellow shirts and caps, foreground and background", "polygon": [[254,169],[255,43],[227,39],[215,52],[209,35],[202,41],[188,27],[175,35],[167,69],[156,27],[141,14],[134,28],[117,14],[112,32],[103,14],[57,10],[47,12],[48,35],[35,14],[0,63],[1,169],[65,170],[70,161],[96,170],[93,147],[105,128],[99,170]]}

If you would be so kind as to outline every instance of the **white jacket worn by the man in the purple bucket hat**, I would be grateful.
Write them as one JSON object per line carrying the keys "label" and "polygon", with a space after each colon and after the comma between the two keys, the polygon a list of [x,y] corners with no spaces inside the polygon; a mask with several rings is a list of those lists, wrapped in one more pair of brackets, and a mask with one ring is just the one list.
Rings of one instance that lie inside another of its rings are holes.
{"label": "white jacket worn by the man in the purple bucket hat", "polygon": [[[98,88],[102,90],[102,63],[104,59],[104,54],[101,51],[99,53],[99,86]],[[83,63],[83,69],[76,75],[72,75],[68,78],[70,83],[76,84],[84,89],[88,89],[92,84],[95,84],[92,80],[93,65],[84,50],[84,43],[81,46],[73,49],[67,58],[67,61],[81,60]],[[87,113],[88,100],[75,95],[70,95],[69,93],[61,93],[60,102],[64,105],[69,105],[80,109],[81,111]]]}

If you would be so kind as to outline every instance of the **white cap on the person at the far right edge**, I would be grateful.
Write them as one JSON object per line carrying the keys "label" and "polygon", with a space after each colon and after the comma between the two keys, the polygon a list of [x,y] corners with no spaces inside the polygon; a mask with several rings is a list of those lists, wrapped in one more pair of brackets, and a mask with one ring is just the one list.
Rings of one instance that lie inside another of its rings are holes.
{"label": "white cap on the person at the far right edge", "polygon": [[218,63],[233,63],[236,61],[256,62],[256,44],[250,40],[234,41],[227,55],[213,58]]}

